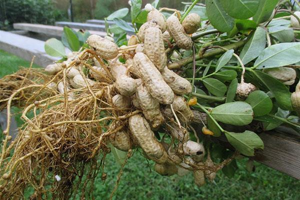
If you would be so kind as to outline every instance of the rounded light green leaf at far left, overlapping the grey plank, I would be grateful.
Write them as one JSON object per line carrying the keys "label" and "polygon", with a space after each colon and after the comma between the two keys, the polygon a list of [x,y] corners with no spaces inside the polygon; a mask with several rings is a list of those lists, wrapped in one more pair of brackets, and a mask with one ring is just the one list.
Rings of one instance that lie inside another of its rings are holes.
{"label": "rounded light green leaf at far left, overlapping the grey plank", "polygon": [[61,41],[55,38],[48,39],[45,42],[44,49],[46,53],[54,57],[65,56],[65,49]]}

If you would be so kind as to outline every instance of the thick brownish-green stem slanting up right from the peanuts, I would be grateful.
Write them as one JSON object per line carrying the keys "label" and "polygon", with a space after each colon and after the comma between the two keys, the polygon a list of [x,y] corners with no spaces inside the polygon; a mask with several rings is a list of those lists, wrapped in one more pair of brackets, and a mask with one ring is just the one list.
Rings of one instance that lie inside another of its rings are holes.
{"label": "thick brownish-green stem slanting up right from the peanuts", "polygon": [[[241,40],[241,41],[238,41],[238,42],[235,42],[235,43],[232,43],[232,44],[225,45],[223,47],[226,48],[226,49],[236,49],[236,48],[239,48],[239,47],[243,46],[245,43],[246,43],[246,40]],[[214,55],[221,54],[223,52],[225,52],[225,50],[223,50],[223,49],[219,49],[219,48],[212,49],[210,51],[206,51],[203,54],[197,54],[195,56],[195,60],[200,60],[200,59],[203,59],[203,58],[211,57],[211,56],[214,56]],[[167,65],[167,67],[169,69],[178,69],[179,67],[181,67],[183,65],[186,65],[188,63],[191,63],[192,61],[193,61],[193,56],[189,56],[189,57],[184,58],[182,60],[179,60],[177,62],[170,63],[170,64]]]}

